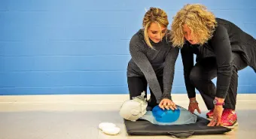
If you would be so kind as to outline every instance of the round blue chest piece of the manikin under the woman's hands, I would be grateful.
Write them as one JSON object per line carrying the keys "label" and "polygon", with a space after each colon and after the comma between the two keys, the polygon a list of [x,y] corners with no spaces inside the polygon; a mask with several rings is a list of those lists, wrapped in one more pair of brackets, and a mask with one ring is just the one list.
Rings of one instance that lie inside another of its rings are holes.
{"label": "round blue chest piece of the manikin under the woman's hands", "polygon": [[180,116],[181,110],[163,110],[157,105],[152,109],[152,113],[157,122],[175,122]]}

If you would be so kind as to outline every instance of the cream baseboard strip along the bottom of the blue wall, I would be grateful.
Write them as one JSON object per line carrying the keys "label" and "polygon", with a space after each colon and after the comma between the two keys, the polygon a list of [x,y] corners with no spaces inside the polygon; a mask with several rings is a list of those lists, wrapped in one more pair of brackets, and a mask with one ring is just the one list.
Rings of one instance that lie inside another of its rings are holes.
{"label": "cream baseboard strip along the bottom of the blue wall", "polygon": [[[150,95],[148,95],[148,98]],[[1,95],[0,104],[8,103],[83,103],[83,104],[104,104],[104,103],[122,103],[129,99],[128,94],[121,95]],[[187,94],[173,94],[172,99],[175,102],[187,102]],[[203,101],[200,95],[197,95],[197,101]],[[237,101],[256,102],[256,94],[239,94]]]}

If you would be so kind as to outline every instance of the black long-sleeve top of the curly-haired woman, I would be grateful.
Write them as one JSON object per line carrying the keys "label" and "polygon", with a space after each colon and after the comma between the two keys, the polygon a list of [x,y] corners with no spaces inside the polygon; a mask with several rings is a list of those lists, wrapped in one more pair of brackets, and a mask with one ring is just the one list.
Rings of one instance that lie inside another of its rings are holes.
{"label": "black long-sleeve top of the curly-haired woman", "polygon": [[184,65],[184,80],[189,98],[196,96],[195,88],[190,83],[190,71],[194,67],[194,54],[197,62],[207,57],[215,57],[217,62],[216,97],[225,98],[230,85],[233,59],[232,52],[240,53],[242,59],[256,72],[256,41],[251,35],[227,20],[216,18],[218,26],[213,37],[202,47],[191,45],[188,41],[181,49]]}

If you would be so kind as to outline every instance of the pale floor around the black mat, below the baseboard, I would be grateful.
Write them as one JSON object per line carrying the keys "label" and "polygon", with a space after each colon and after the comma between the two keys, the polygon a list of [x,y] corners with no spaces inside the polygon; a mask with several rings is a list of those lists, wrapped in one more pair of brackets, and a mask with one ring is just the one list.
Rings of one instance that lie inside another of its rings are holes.
{"label": "pale floor around the black mat, below the baseboard", "polygon": [[[3,99],[2,99],[3,100]],[[248,99],[250,100],[250,99]],[[169,136],[129,136],[123,119],[118,114],[120,102],[108,103],[1,103],[0,139],[164,139]],[[176,104],[187,107],[187,102]],[[202,113],[207,112],[200,100]],[[256,138],[256,100],[238,101],[239,126],[227,134],[194,135],[190,138]],[[99,130],[100,122],[113,122],[121,130],[117,135],[108,135]]]}

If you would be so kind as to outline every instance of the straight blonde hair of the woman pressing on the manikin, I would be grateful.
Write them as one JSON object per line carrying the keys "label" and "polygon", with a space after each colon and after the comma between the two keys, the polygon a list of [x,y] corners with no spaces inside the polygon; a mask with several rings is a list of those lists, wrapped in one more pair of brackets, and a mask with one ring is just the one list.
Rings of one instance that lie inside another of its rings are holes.
{"label": "straight blonde hair of the woman pressing on the manikin", "polygon": [[[146,12],[143,18],[142,26],[144,28],[144,38],[148,46],[153,48],[149,41],[148,32],[147,32],[148,28],[151,26],[151,23],[157,23],[158,26],[160,26],[160,29],[161,29],[161,26],[167,27],[169,25],[169,21],[168,21],[166,12],[160,8],[150,8]],[[161,32],[161,35],[162,35],[162,32]]]}

